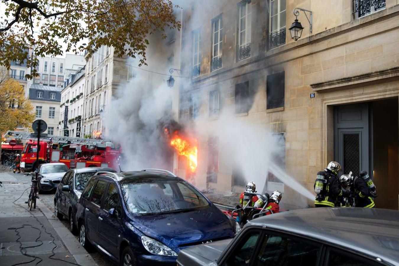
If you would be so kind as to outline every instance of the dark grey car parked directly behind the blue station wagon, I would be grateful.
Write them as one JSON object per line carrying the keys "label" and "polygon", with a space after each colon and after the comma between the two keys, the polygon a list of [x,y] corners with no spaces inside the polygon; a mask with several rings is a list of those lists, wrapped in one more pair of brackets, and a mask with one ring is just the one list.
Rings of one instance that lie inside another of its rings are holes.
{"label": "dark grey car parked directly behind the blue station wagon", "polygon": [[69,219],[69,226],[72,233],[76,231],[76,204],[85,189],[89,179],[98,171],[115,172],[115,170],[106,167],[85,167],[79,169],[70,169],[62,177],[57,186],[54,196],[54,209],[57,217]]}

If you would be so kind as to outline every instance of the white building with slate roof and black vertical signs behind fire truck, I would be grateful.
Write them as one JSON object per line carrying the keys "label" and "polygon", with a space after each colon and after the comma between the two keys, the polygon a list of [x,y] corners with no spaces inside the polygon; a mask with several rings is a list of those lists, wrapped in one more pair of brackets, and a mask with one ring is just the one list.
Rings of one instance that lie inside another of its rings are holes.
{"label": "white building with slate roof and black vertical signs behind fire truck", "polygon": [[85,91],[85,67],[75,74],[70,73],[61,91],[59,136],[82,137],[83,92]]}

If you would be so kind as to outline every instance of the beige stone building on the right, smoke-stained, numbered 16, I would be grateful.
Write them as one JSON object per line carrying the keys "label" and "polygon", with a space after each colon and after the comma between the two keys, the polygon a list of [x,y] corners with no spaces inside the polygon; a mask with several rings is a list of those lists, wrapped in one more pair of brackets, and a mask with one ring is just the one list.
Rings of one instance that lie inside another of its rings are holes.
{"label": "beige stone building on the right, smoke-stained, numbered 16", "polygon": [[[288,30],[294,8],[312,11],[311,33],[300,11],[298,41]],[[368,171],[376,205],[398,209],[397,1],[207,0],[184,14],[181,69],[192,85],[180,90],[180,121],[207,117],[215,127],[223,109],[233,108],[237,120],[280,135],[284,152],[272,159],[309,191],[316,173],[336,160],[344,173]],[[207,164],[199,164],[196,185],[242,191],[251,177],[234,169],[231,154],[213,136],[198,142]],[[180,176],[184,167],[174,165]],[[287,207],[312,205],[298,203],[276,176],[263,178],[268,191],[284,192]]]}

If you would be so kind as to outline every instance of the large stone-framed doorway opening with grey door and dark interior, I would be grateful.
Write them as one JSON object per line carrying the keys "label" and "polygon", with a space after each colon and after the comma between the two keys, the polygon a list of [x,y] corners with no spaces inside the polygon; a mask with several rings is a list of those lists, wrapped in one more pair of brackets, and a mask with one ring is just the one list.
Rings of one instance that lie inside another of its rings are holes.
{"label": "large stone-framed doorway opening with grey door and dark interior", "polygon": [[373,178],[377,208],[398,209],[398,98],[334,107],[334,160]]}

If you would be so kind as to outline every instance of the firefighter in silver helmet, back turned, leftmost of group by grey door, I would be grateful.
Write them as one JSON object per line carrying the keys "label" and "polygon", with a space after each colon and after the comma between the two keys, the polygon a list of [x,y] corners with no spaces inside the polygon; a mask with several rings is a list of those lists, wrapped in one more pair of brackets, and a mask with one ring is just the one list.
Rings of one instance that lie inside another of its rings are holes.
{"label": "firefighter in silver helmet, back turned, leftmost of group by grey door", "polygon": [[330,162],[324,171],[317,173],[314,183],[314,192],[317,194],[314,200],[315,207],[335,207],[340,205],[337,203],[339,197],[350,195],[350,192],[341,189],[337,177],[339,171],[341,171],[341,165]]}

